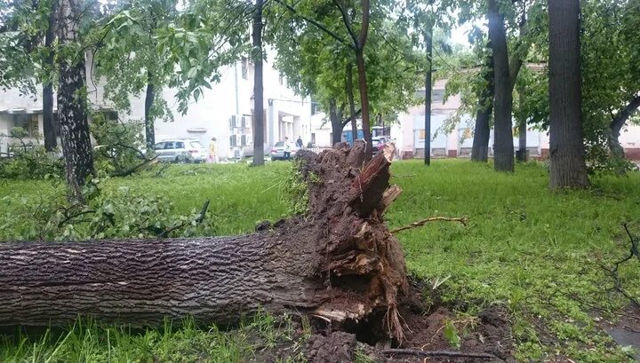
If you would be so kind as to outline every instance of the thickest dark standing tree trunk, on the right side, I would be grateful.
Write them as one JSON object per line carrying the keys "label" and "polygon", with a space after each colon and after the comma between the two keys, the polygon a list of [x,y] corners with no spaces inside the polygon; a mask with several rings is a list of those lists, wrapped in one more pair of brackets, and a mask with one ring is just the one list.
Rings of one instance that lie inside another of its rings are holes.
{"label": "thickest dark standing tree trunk, on the right side", "polygon": [[580,113],[580,1],[548,0],[549,187],[588,185]]}

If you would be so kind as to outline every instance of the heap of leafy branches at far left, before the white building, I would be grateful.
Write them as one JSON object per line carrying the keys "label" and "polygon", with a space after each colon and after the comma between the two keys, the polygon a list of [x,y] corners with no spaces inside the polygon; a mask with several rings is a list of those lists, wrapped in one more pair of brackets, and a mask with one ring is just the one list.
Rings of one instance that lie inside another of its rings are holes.
{"label": "heap of leafy branches at far left, before the white building", "polygon": [[9,136],[0,135],[0,141],[7,138],[12,146],[9,154],[0,155],[0,179],[44,179],[48,176],[61,177],[64,162],[56,154],[47,153],[43,146],[33,145],[24,138],[27,130],[13,128]]}

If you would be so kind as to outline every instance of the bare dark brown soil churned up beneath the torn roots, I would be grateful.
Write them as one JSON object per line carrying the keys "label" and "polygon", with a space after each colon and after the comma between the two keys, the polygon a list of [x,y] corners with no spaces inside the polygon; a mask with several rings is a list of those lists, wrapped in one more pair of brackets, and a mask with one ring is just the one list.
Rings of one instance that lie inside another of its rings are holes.
{"label": "bare dark brown soil churned up beneath the torn roots", "polygon": [[[323,321],[314,321],[313,335],[304,346],[298,343],[276,345],[262,350],[251,359],[253,362],[285,361],[297,357],[310,363],[486,363],[515,362],[514,342],[508,314],[503,307],[490,306],[477,317],[460,319],[449,309],[439,307],[428,313],[420,313],[415,306],[401,311],[404,319],[404,341],[392,342],[378,333],[378,327],[367,322],[359,325],[327,327]],[[450,321],[460,335],[460,348],[452,347],[444,336],[444,327]],[[346,331],[345,331],[346,330]],[[363,342],[364,341],[364,342]],[[389,348],[416,351],[452,351],[461,353],[488,353],[493,359],[468,357],[420,357],[417,355],[388,354]],[[356,360],[356,358],[358,360]],[[426,359],[427,358],[427,359]],[[368,359],[368,360],[365,360]],[[299,360],[294,360],[299,361]]]}

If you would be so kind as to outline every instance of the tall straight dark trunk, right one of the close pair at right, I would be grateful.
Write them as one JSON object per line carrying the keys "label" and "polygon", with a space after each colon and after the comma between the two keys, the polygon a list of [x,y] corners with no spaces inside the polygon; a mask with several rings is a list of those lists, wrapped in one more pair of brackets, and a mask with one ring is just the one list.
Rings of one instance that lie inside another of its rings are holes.
{"label": "tall straight dark trunk, right one of the close pair at right", "polygon": [[489,0],[489,41],[493,53],[494,100],[494,168],[496,171],[514,171],[514,146],[511,111],[512,86],[509,78],[507,34],[504,16],[497,0]]}

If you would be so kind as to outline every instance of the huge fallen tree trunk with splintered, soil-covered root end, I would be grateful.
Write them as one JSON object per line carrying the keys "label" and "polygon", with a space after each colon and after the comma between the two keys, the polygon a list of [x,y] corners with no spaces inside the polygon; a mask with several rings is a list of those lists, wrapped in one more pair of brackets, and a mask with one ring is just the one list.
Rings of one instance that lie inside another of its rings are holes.
{"label": "huge fallen tree trunk with splintered, soil-covered root end", "polygon": [[224,323],[263,308],[336,322],[385,312],[381,323],[401,338],[404,256],[381,217],[400,192],[385,195],[394,150],[363,167],[364,152],[359,144],[300,152],[308,214],[258,233],[0,243],[0,326],[63,325],[78,315],[132,326],[186,316]]}

